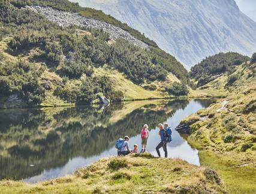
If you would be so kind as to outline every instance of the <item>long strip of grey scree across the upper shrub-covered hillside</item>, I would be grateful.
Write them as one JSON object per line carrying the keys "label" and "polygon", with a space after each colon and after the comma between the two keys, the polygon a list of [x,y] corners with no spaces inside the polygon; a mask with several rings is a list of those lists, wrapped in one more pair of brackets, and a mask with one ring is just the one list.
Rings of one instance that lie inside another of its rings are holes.
{"label": "long strip of grey scree across the upper shrub-covered hillside", "polygon": [[70,13],[67,11],[58,11],[54,10],[50,7],[40,7],[40,6],[26,6],[26,8],[30,8],[42,16],[46,17],[46,19],[58,23],[60,26],[86,26],[95,29],[103,29],[103,31],[107,32],[110,35],[110,38],[116,40],[118,38],[124,38],[129,41],[129,43],[134,44],[135,46],[146,48],[147,44],[143,43],[140,40],[132,37],[127,31],[124,31],[121,28],[110,25],[106,22],[101,22],[100,20],[89,19],[87,17],[80,16],[76,13]]}

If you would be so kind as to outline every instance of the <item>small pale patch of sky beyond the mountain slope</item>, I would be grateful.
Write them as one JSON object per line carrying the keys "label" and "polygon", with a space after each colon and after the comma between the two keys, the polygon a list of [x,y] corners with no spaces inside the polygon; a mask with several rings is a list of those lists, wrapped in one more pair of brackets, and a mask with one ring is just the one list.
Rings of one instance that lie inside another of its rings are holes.
{"label": "small pale patch of sky beyond the mountain slope", "polygon": [[256,22],[256,0],[235,0],[240,10]]}

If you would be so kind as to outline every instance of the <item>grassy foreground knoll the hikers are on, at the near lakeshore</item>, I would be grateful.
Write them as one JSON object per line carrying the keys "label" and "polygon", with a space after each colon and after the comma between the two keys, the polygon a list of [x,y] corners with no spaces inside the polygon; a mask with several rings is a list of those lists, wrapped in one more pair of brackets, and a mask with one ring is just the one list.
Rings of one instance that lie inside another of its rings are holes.
{"label": "grassy foreground knoll the hikers are on, at the near lakeshore", "polygon": [[3,180],[0,190],[3,193],[224,193],[221,180],[212,169],[179,159],[141,156],[102,159],[68,177],[34,185]]}

